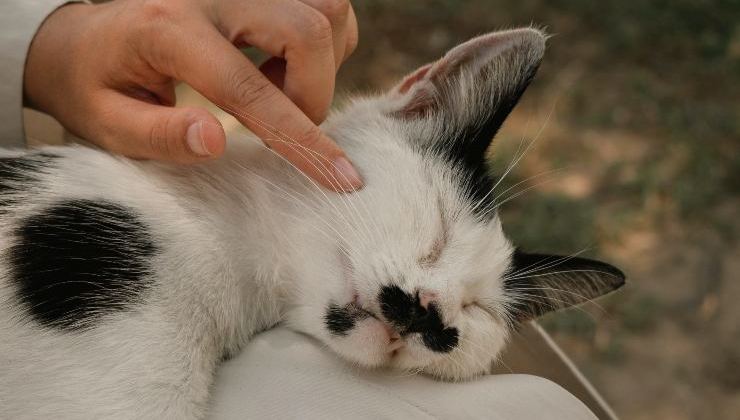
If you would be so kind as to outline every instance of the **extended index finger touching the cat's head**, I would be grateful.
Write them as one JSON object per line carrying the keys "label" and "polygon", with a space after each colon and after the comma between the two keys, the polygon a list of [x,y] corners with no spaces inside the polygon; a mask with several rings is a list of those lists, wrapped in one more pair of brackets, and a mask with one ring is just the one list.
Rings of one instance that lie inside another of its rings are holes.
{"label": "extended index finger touching the cat's head", "polygon": [[336,191],[362,185],[344,152],[211,26],[147,45],[158,71],[187,82],[311,178]]}

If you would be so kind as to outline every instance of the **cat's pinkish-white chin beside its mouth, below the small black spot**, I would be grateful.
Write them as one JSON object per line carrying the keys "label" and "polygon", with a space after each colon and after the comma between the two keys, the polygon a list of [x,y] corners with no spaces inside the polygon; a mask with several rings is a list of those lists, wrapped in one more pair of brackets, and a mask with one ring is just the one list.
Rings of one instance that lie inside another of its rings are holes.
{"label": "cat's pinkish-white chin beside its mouth, below the small black spot", "polygon": [[330,346],[345,359],[365,367],[385,366],[393,355],[393,339],[375,318],[358,321],[344,337],[334,337]]}

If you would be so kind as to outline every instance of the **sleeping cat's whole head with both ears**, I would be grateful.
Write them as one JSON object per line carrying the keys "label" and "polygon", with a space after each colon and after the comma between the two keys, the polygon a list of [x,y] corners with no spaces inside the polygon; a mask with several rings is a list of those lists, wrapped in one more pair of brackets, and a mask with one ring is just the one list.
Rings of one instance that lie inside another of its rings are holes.
{"label": "sleeping cat's whole head with both ears", "polygon": [[359,365],[462,379],[488,371],[518,323],[624,284],[603,262],[517,249],[496,213],[486,150],[545,39],[474,38],[329,121],[366,186],[314,220],[337,245],[308,262],[290,324]]}

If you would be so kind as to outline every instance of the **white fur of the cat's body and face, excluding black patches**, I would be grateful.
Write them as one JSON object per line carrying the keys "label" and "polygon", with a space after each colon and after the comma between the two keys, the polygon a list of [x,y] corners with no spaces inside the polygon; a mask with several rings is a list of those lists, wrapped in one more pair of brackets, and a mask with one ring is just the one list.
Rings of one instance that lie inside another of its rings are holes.
{"label": "white fur of the cat's body and face, excluding black patches", "polygon": [[[497,49],[544,48],[536,30],[502,34]],[[362,366],[451,379],[486,372],[509,334],[501,278],[512,247],[497,217],[481,222],[462,198],[461,175],[409,140],[449,128],[388,115],[424,88],[357,99],[323,124],[366,182],[347,195],[318,188],[246,135],[232,136],[223,158],[193,167],[49,149],[62,158],[0,218],[0,252],[12,244],[14,214],[69,197],[105,199],[134,209],[151,230],[161,250],[156,286],[94,328],[62,331],[27,316],[0,262],[0,417],[201,418],[219,360],[279,322]],[[485,100],[459,98],[456,112]],[[440,246],[433,263],[421,263]],[[378,291],[390,281],[436,296],[459,345],[435,353],[418,334],[399,344],[373,317],[346,336],[326,328],[330,302],[379,313]]]}

